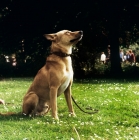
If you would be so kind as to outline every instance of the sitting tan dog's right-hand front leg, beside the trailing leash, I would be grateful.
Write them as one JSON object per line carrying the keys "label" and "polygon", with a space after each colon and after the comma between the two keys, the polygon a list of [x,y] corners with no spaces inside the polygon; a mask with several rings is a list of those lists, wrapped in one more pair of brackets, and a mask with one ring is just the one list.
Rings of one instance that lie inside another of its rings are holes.
{"label": "sitting tan dog's right-hand front leg, beside the trailing leash", "polygon": [[69,84],[68,88],[65,90],[64,95],[65,95],[65,99],[67,101],[67,105],[68,105],[68,108],[69,108],[69,113],[72,116],[76,116],[75,113],[74,113],[72,100],[71,100],[71,83]]}

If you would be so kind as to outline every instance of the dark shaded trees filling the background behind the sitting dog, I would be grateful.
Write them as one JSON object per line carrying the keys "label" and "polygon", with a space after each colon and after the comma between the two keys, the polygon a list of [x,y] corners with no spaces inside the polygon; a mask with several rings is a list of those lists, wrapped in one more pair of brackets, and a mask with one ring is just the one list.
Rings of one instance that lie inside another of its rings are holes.
{"label": "dark shaded trees filling the background behind the sitting dog", "polygon": [[[49,54],[50,42],[43,34],[63,29],[84,32],[83,40],[77,45],[79,50],[73,51],[75,76],[85,76],[85,66],[94,75],[95,58],[108,45],[111,46],[110,71],[120,75],[119,38],[126,47],[139,41],[139,2],[3,0],[0,4],[0,75],[34,76]],[[4,56],[12,54],[16,55],[16,67],[5,63]]]}

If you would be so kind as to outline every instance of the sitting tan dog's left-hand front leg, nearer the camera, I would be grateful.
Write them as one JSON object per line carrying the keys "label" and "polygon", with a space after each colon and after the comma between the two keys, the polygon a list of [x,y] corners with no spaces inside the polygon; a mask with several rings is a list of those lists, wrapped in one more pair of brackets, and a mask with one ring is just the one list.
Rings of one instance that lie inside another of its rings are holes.
{"label": "sitting tan dog's left-hand front leg, nearer the camera", "polygon": [[50,88],[50,106],[52,110],[52,117],[56,120],[59,120],[57,115],[57,88]]}

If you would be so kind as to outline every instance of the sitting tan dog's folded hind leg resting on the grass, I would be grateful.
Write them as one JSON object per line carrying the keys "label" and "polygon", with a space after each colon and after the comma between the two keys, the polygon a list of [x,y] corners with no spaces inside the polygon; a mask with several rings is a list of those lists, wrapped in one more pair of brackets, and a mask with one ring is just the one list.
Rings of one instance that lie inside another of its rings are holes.
{"label": "sitting tan dog's folded hind leg resting on the grass", "polygon": [[39,98],[34,92],[26,94],[23,99],[22,114],[35,115],[38,102]]}

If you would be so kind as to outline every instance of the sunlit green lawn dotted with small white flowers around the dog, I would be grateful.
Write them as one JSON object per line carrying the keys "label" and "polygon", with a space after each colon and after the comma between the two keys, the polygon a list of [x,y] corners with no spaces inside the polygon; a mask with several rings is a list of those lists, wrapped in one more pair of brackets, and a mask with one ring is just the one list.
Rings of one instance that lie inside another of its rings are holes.
{"label": "sunlit green lawn dotted with small white flowers around the dog", "polygon": [[[0,81],[0,112],[20,112],[22,98],[32,78],[11,78]],[[76,118],[68,115],[64,96],[58,98],[60,121],[21,115],[0,116],[0,140],[138,140],[139,139],[139,81],[80,80],[72,93],[85,110],[98,109],[97,114],[81,112],[74,105]],[[87,110],[91,111],[91,110]]]}

